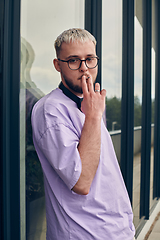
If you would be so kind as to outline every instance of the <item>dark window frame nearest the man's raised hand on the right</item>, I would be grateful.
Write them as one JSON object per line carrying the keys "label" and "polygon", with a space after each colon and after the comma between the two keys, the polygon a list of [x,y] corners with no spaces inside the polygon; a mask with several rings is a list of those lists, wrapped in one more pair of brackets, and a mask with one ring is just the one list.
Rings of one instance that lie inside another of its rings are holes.
{"label": "dark window frame nearest the man's raised hand on the right", "polygon": [[132,203],[134,132],[134,0],[123,0],[121,171]]}

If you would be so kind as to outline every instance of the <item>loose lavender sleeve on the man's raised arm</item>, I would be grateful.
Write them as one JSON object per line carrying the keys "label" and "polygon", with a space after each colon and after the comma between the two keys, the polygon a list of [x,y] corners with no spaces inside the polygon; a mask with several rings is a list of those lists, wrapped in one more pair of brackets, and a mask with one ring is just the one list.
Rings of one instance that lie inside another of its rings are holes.
{"label": "loose lavender sleeve on the man's raised arm", "polygon": [[78,143],[77,134],[64,123],[49,127],[38,143],[46,161],[69,189],[74,187],[82,170]]}

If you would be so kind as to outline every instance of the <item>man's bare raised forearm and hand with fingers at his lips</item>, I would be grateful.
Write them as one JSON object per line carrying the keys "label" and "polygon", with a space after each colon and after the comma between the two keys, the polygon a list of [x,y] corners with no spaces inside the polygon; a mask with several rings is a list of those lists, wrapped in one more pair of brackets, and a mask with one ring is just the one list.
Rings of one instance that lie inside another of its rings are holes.
{"label": "man's bare raised forearm and hand with fingers at his lips", "polygon": [[[98,83],[96,83],[95,89],[100,90]],[[82,172],[72,190],[77,194],[87,195],[100,159],[101,119],[105,109],[106,91],[94,92],[91,77],[86,82],[85,76],[82,77],[82,90],[83,101],[81,109],[85,114],[85,122],[78,145]]]}

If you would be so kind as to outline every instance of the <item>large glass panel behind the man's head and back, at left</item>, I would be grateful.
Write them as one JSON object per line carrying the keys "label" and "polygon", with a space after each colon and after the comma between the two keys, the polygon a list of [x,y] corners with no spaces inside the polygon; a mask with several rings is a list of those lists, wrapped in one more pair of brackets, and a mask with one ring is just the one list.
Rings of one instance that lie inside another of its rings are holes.
{"label": "large glass panel behind the man's head and back, at left", "polygon": [[[54,40],[65,29],[84,28],[84,0],[21,2],[21,195],[22,239],[46,239],[43,174],[34,150],[31,110],[35,102],[56,88],[60,76],[54,70]],[[25,171],[26,167],[26,171]],[[26,185],[25,185],[26,177]]]}

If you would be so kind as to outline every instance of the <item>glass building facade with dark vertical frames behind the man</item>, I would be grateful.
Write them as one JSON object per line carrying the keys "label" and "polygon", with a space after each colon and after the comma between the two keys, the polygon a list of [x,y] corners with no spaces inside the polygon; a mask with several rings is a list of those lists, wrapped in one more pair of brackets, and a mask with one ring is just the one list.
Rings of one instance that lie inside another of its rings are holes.
{"label": "glass building facade with dark vertical frames behind the man", "polygon": [[30,117],[60,82],[54,40],[72,27],[97,39],[104,120],[136,239],[144,238],[160,211],[159,12],[158,0],[0,0],[0,239],[45,240],[43,174]]}

